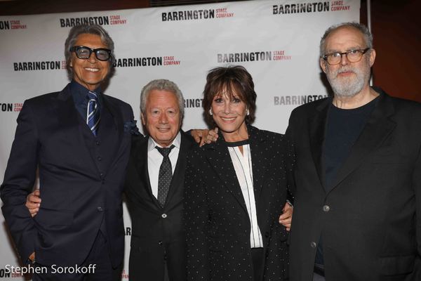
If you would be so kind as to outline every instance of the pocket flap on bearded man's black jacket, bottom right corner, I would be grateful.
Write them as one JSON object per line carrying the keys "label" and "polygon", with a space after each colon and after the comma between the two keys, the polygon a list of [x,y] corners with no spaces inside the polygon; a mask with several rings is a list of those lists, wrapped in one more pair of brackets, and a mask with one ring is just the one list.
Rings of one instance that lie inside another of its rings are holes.
{"label": "pocket flap on bearded man's black jacket, bottom right corner", "polygon": [[415,255],[387,256],[380,258],[380,273],[382,275],[400,275],[414,270]]}

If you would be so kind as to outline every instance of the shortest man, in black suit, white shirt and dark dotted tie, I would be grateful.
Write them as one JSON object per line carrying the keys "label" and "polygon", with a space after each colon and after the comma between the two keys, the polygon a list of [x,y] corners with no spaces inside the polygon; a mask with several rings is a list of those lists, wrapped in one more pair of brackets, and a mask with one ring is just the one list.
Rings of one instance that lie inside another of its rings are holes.
{"label": "shortest man, in black suit, white shirt and dark dotted tie", "polygon": [[193,138],[180,131],[184,98],[172,81],[149,82],[140,96],[149,136],[133,141],[126,175],[132,220],[131,280],[185,281],[182,201]]}

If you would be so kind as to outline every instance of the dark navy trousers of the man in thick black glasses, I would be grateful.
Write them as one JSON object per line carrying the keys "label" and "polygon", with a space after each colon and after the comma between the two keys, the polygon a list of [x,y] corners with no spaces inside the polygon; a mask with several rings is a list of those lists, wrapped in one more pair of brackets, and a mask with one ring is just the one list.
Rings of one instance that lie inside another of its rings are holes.
{"label": "dark navy trousers of the man in thick black glasses", "polygon": [[119,281],[123,269],[123,264],[118,268],[112,268],[107,240],[101,231],[98,231],[92,249],[81,265],[71,265],[65,268],[35,263],[34,266],[42,269],[43,273],[34,274],[33,281]]}

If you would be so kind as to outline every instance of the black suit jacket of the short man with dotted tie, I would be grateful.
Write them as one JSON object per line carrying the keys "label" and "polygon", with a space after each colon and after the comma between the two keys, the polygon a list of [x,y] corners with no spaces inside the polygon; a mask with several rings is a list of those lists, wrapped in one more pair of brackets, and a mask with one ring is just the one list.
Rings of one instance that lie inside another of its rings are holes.
{"label": "black suit jacket of the short man with dotted tie", "polygon": [[186,155],[196,144],[181,132],[180,152],[166,204],[152,194],[147,168],[149,138],[133,140],[126,175],[126,196],[132,220],[129,275],[131,280],[163,280],[166,261],[171,281],[185,281],[186,246],[182,202]]}

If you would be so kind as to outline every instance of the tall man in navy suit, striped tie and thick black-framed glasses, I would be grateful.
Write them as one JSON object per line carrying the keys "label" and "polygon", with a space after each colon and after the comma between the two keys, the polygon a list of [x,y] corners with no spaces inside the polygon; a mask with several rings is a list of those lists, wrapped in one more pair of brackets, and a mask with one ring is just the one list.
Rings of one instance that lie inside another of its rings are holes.
{"label": "tall man in navy suit, striped tie and thick black-framed glasses", "polygon": [[[113,51],[99,25],[72,28],[65,42],[72,81],[60,92],[26,100],[18,117],[1,200],[20,258],[36,259],[43,271],[34,280],[121,277],[121,193],[134,122],[130,105],[100,89]],[[25,200],[37,169],[42,206],[32,218]],[[74,273],[60,274],[52,265]],[[81,270],[89,265],[95,270]]]}

